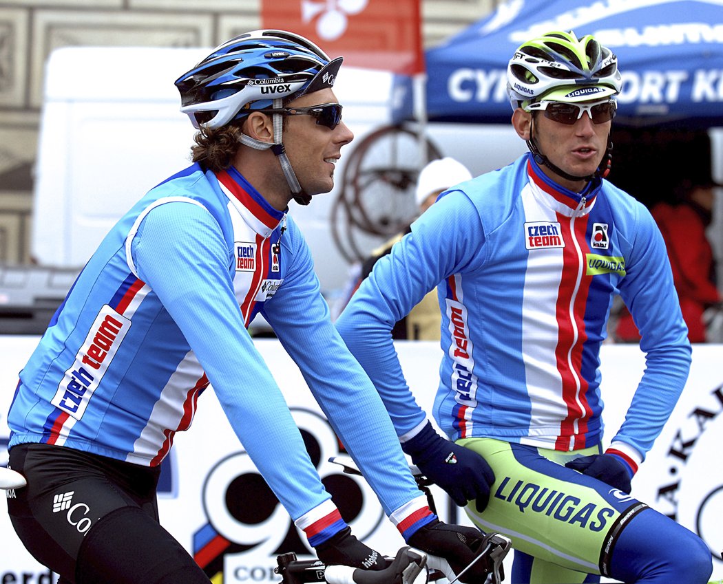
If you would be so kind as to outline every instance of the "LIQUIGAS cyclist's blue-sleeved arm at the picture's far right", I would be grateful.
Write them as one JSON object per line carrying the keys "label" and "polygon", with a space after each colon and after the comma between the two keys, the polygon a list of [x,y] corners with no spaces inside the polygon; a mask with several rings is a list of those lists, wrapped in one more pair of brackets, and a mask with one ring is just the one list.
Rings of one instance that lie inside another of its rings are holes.
{"label": "LIQUIGAS cyclist's blue-sleeved arm at the picture's far right", "polygon": [[640,463],[683,391],[691,351],[662,236],[647,209],[636,210],[620,295],[641,333],[646,370],[611,447]]}

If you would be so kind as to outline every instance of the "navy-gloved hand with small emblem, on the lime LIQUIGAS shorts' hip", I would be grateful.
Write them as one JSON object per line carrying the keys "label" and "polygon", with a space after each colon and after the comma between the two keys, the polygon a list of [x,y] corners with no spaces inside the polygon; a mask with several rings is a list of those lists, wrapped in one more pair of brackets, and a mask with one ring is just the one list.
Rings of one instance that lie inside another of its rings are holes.
{"label": "navy-gloved hand with small emblem, on the lime LIQUIGAS shorts' hip", "polygon": [[487,507],[495,473],[474,450],[441,437],[431,423],[403,443],[402,450],[411,456],[424,476],[445,489],[457,505],[463,507],[468,501],[476,500],[479,512]]}

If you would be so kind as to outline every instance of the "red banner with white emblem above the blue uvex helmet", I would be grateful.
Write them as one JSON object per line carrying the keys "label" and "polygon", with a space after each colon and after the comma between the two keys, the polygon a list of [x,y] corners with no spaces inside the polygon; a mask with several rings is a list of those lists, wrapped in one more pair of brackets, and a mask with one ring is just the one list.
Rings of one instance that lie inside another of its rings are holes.
{"label": "red banner with white emblem above the blue uvex helmet", "polygon": [[421,0],[262,0],[262,28],[296,32],[344,64],[424,71]]}

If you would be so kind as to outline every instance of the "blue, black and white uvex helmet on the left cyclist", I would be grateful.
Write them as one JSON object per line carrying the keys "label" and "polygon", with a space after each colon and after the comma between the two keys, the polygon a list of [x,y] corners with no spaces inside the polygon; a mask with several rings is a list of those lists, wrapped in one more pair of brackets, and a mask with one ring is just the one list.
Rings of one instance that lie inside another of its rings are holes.
{"label": "blue, black and white uvex helmet on the left cyclist", "polygon": [[219,128],[252,110],[273,107],[274,100],[288,103],[333,87],[342,61],[293,32],[247,32],[176,79],[181,112],[195,128]]}

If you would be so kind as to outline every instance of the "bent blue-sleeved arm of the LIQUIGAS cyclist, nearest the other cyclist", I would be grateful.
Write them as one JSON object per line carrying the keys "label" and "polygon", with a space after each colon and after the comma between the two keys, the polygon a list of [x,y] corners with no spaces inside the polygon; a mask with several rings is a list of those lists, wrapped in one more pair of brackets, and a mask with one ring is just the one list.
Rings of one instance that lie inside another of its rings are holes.
{"label": "bent blue-sleeved arm of the LIQUIGAS cyclist, nearest the other cyclist", "polygon": [[422,430],[426,415],[409,391],[392,341],[394,324],[450,274],[484,257],[479,214],[461,191],[451,191],[427,209],[411,233],[375,264],[336,321],[354,357],[385,402],[397,434]]}

